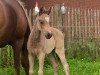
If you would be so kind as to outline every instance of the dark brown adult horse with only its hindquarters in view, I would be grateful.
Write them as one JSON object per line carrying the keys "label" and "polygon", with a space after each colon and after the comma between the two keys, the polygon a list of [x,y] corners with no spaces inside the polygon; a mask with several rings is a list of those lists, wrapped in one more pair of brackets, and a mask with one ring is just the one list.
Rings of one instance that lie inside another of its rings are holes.
{"label": "dark brown adult horse with only its hindquarters in view", "polygon": [[16,75],[20,75],[20,54],[22,66],[29,75],[27,38],[29,36],[28,21],[24,10],[17,0],[0,0],[0,47],[9,44],[14,50],[14,67]]}

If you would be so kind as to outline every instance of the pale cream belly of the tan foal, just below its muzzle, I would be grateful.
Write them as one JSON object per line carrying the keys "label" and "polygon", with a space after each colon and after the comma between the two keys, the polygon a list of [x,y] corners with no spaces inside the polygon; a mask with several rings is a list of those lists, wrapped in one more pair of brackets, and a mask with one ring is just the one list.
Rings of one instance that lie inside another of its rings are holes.
{"label": "pale cream belly of the tan foal, just below its muzzle", "polygon": [[51,53],[54,48],[55,48],[54,37],[51,37],[50,39],[46,39],[46,41],[45,41],[45,50],[46,50],[46,53],[47,54]]}

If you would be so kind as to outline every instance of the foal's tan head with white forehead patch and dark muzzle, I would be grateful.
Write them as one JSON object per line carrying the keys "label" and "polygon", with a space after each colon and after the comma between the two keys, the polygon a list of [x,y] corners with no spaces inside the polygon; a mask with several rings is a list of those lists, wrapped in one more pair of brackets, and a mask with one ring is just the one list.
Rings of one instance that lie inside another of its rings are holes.
{"label": "foal's tan head with white forehead patch and dark muzzle", "polygon": [[51,8],[47,11],[44,8],[40,9],[39,15],[36,17],[35,26],[36,28],[45,35],[47,39],[52,37],[51,27],[49,24],[49,13]]}

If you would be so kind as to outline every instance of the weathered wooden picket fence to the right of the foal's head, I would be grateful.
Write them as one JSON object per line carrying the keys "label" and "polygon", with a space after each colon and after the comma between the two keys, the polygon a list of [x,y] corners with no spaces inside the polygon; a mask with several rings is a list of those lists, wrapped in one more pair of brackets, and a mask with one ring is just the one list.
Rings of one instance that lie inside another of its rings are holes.
{"label": "weathered wooden picket fence to the right of the foal's head", "polygon": [[53,7],[51,24],[63,30],[66,39],[72,38],[99,38],[100,37],[100,10],[66,7],[66,14],[61,14],[60,6]]}

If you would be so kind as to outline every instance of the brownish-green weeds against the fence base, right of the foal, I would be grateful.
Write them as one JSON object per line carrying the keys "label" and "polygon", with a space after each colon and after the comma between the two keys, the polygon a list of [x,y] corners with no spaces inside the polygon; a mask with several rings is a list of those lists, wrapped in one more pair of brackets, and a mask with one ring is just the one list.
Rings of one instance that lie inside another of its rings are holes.
{"label": "brownish-green weeds against the fence base, right of the foal", "polygon": [[76,38],[66,43],[66,57],[88,59],[91,61],[100,59],[100,40],[89,38],[85,41]]}

